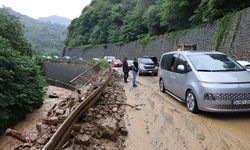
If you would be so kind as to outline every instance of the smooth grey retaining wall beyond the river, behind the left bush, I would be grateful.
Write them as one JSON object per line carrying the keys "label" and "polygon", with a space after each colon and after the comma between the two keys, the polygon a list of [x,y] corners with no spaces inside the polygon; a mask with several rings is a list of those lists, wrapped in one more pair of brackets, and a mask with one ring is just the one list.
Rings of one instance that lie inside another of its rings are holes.
{"label": "smooth grey retaining wall beyond the river, behind the left bush", "polygon": [[90,68],[87,63],[43,62],[42,69],[47,78],[69,84],[76,76]]}

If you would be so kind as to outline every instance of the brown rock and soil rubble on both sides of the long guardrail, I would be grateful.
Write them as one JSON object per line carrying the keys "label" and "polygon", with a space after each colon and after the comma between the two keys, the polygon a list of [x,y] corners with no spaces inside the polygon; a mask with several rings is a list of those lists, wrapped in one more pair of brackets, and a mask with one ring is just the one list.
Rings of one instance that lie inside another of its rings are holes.
{"label": "brown rock and soil rubble on both sides of the long guardrail", "polygon": [[[88,85],[55,104],[42,123],[36,124],[37,133],[21,138],[24,144],[15,149],[41,149],[70,113],[107,77],[107,73],[99,73]],[[126,96],[120,81],[114,73],[98,102],[74,124],[64,149],[124,149],[124,136],[128,134],[123,120]]]}

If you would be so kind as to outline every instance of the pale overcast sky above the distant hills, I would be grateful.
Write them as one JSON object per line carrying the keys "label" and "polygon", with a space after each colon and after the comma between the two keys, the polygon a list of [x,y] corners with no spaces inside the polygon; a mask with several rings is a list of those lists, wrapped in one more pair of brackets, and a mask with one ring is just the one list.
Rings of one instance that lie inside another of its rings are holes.
{"label": "pale overcast sky above the distant hills", "polygon": [[57,15],[74,19],[79,17],[83,8],[91,0],[0,0],[0,7],[13,10],[32,18]]}

